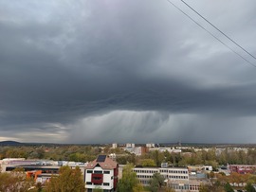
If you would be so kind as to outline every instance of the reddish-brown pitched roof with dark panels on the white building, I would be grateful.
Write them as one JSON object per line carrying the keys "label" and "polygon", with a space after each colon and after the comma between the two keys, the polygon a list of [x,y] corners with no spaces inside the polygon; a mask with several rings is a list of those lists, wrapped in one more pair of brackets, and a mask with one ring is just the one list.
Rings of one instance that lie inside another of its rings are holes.
{"label": "reddish-brown pitched roof with dark panels on the white building", "polygon": [[95,166],[101,166],[102,169],[113,169],[118,166],[118,163],[107,157],[106,155],[99,155],[96,160],[89,162],[86,169],[94,168]]}

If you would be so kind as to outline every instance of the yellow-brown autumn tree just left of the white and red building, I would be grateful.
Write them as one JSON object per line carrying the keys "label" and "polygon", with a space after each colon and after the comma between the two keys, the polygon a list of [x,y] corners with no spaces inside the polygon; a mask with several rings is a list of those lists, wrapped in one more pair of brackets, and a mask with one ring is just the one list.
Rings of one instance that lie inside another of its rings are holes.
{"label": "yellow-brown autumn tree just left of the white and red building", "polygon": [[69,166],[62,166],[59,176],[52,176],[49,183],[46,183],[48,192],[79,192],[84,191],[82,172],[77,166],[75,169]]}

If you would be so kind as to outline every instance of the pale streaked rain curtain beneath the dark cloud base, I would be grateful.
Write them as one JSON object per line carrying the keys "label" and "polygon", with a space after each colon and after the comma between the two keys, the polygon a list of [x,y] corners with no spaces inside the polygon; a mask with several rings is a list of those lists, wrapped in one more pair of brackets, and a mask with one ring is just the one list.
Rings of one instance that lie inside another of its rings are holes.
{"label": "pale streaked rain curtain beneath the dark cloud base", "polygon": [[253,117],[115,111],[70,125],[70,135],[77,143],[254,143],[254,124]]}

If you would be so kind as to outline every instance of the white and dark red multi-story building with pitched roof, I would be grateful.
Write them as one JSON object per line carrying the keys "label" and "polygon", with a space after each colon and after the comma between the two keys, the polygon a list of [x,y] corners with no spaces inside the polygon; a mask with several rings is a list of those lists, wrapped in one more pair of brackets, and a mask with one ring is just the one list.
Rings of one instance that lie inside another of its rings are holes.
{"label": "white and dark red multi-story building with pitched roof", "polygon": [[84,181],[87,192],[101,188],[103,192],[112,192],[117,188],[119,165],[106,155],[99,155],[84,169]]}

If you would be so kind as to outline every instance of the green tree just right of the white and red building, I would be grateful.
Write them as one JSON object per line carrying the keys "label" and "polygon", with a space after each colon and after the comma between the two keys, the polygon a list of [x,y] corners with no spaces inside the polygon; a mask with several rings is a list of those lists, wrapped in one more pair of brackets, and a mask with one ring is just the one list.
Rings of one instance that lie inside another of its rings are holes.
{"label": "green tree just right of the white and red building", "polygon": [[118,183],[118,192],[133,191],[133,189],[139,184],[137,175],[133,171],[133,165],[128,164],[123,167],[122,177]]}

